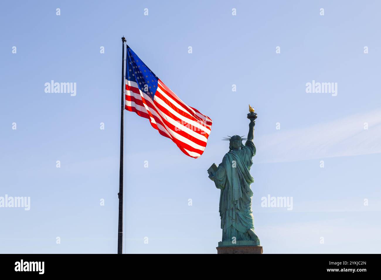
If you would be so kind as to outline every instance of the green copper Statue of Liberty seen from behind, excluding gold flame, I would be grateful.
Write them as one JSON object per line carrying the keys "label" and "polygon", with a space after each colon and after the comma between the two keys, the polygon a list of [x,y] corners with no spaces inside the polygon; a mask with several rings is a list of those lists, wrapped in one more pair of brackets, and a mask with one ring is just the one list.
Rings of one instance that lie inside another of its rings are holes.
{"label": "green copper Statue of Liberty seen from behind, excluding gold flame", "polygon": [[[253,192],[250,184],[254,182],[250,174],[252,157],[256,153],[254,145],[254,126],[256,114],[250,112],[249,133],[245,145],[242,138],[234,135],[229,139],[229,152],[216,168],[213,165],[208,170],[209,178],[221,190],[219,213],[222,242],[219,246],[258,246],[259,238],[254,232],[254,217],[251,211]],[[235,243],[234,243],[235,242]]]}

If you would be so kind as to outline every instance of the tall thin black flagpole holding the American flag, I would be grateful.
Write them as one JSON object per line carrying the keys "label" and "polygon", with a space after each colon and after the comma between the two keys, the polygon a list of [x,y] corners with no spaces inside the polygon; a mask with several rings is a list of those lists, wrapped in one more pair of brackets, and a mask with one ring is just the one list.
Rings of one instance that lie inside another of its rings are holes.
{"label": "tall thin black flagpole holding the American flag", "polygon": [[118,216],[118,254],[123,252],[123,113],[125,106],[124,96],[124,43],[126,38],[122,37],[122,105],[120,108],[120,165],[119,165],[119,216]]}

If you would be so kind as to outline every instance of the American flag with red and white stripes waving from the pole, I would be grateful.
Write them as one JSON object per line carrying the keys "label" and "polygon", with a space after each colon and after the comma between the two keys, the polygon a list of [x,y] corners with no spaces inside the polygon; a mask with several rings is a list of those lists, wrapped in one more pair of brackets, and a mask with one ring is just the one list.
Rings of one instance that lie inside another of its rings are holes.
{"label": "American flag with red and white stripes waving from the pole", "polygon": [[207,146],[212,120],[189,107],[127,46],[125,109],[147,118],[189,157],[198,158]]}

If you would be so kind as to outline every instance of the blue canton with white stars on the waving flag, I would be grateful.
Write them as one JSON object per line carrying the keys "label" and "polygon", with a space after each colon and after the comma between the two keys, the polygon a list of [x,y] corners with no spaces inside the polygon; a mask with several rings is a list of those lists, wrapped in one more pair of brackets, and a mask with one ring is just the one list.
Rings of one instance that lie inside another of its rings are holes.
{"label": "blue canton with white stars on the waving flag", "polygon": [[137,83],[139,90],[154,100],[158,77],[141,61],[129,46],[127,46],[126,65],[126,79]]}

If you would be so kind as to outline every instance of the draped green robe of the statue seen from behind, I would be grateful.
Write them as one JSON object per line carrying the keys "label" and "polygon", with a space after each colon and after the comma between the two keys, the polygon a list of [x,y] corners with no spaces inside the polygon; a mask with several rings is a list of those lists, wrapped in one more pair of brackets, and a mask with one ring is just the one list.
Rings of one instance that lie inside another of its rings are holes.
{"label": "draped green robe of the statue seen from behind", "polygon": [[237,151],[230,151],[218,166],[214,182],[221,189],[219,214],[221,216],[222,241],[251,240],[248,229],[254,230],[254,217],[251,211],[253,192],[250,184],[254,182],[250,175],[253,165],[251,158],[256,149],[253,141],[248,140],[245,146]]}

